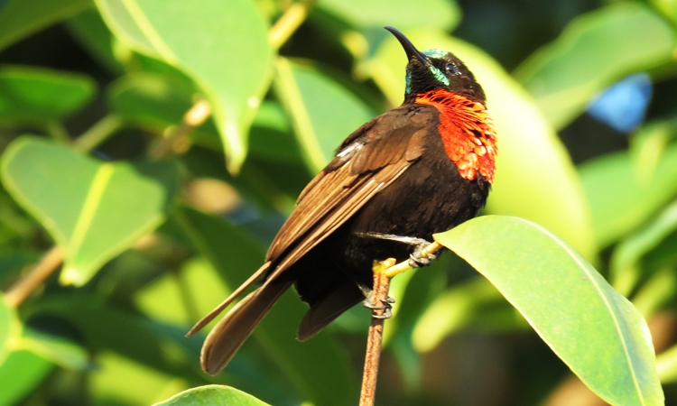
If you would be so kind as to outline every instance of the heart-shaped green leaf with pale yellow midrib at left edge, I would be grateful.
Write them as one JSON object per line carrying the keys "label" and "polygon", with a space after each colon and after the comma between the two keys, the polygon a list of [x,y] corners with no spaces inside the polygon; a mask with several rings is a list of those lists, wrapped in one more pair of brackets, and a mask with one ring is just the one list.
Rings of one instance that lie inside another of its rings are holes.
{"label": "heart-shaped green leaf with pale yellow midrib at left edge", "polygon": [[95,161],[26,136],[5,151],[2,180],[65,252],[60,281],[82,285],[162,223],[181,171],[172,161]]}

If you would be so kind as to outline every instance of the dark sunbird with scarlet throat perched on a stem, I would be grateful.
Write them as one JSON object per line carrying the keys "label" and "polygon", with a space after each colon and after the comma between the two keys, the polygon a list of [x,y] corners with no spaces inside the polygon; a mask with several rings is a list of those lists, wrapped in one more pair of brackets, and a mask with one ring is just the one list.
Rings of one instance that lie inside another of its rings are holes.
{"label": "dark sunbird with scarlet throat perched on a stem", "polygon": [[255,281],[202,346],[202,369],[218,374],[283,292],[311,309],[301,341],[365,300],[375,260],[411,258],[432,235],[475,217],[494,180],[496,134],[485,94],[450,52],[418,51],[385,27],[409,59],[402,106],[350,134],[301,192],[264,265],[190,330],[203,328]]}

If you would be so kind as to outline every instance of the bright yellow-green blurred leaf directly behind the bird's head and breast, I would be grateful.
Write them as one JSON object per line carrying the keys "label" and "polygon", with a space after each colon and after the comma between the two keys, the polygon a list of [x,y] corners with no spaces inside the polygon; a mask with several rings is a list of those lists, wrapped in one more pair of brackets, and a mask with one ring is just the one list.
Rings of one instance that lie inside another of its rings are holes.
{"label": "bright yellow-green blurred leaf directly behind the bird's head and breast", "polygon": [[[495,60],[468,43],[441,32],[405,33],[420,49],[454,52],[485,89],[498,139],[496,180],[487,211],[546,226],[586,258],[594,258],[597,247],[578,174],[531,97]],[[371,77],[391,103],[402,103],[406,56],[399,42],[385,42],[369,65]]]}

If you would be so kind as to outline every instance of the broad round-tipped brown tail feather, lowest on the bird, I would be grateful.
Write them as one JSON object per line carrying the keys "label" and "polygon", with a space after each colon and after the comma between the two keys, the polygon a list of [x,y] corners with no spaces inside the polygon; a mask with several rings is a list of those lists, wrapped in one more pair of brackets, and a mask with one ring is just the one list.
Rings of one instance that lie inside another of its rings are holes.
{"label": "broad round-tipped brown tail feather, lowest on the bird", "polygon": [[202,370],[212,375],[221,372],[246,337],[252,334],[259,321],[290,286],[291,282],[266,283],[230,309],[205,339],[200,355]]}

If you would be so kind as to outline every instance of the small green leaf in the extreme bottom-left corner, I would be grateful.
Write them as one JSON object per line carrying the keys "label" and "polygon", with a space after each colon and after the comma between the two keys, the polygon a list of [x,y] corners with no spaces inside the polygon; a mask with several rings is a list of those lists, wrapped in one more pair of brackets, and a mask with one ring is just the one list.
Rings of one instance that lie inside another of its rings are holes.
{"label": "small green leaf in the extreme bottom-left corner", "polygon": [[[38,386],[54,367],[30,351],[14,351],[0,363],[0,404],[14,405]],[[11,384],[8,384],[11,383]]]}

